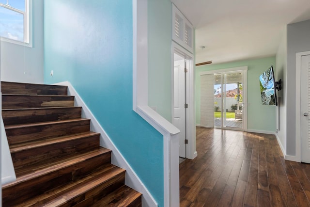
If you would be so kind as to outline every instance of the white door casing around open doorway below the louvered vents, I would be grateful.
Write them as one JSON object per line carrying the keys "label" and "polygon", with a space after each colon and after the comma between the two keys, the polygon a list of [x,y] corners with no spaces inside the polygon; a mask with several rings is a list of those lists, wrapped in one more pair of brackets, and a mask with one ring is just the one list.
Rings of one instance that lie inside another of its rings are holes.
{"label": "white door casing around open doorway below the louvered vents", "polygon": [[171,120],[174,119],[174,53],[189,61],[186,73],[186,158],[197,157],[195,126],[195,87],[194,87],[194,55],[175,42],[171,42]]}

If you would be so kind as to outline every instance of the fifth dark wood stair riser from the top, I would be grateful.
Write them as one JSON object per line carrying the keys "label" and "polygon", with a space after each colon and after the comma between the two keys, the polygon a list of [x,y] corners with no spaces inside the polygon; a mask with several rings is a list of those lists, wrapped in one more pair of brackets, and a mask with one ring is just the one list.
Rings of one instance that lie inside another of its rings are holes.
{"label": "fifth dark wood stair riser from the top", "polygon": [[15,169],[30,164],[43,163],[45,161],[90,151],[99,146],[99,135],[71,140],[64,143],[55,143],[29,150],[11,153]]}

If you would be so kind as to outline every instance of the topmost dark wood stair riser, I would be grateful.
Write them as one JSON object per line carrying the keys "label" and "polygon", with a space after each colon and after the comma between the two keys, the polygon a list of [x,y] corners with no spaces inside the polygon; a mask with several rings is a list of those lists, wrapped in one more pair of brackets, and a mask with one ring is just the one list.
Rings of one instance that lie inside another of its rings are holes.
{"label": "topmost dark wood stair riser", "polygon": [[2,94],[67,95],[67,86],[1,82]]}

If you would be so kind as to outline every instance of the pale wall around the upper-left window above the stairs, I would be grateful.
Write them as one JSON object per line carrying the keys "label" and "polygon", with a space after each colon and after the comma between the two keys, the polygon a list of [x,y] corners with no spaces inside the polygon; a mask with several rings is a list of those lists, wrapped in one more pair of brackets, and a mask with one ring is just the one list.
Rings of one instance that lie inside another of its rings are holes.
{"label": "pale wall around the upper-left window above the stairs", "polygon": [[43,0],[32,1],[32,48],[1,41],[1,80],[43,83]]}

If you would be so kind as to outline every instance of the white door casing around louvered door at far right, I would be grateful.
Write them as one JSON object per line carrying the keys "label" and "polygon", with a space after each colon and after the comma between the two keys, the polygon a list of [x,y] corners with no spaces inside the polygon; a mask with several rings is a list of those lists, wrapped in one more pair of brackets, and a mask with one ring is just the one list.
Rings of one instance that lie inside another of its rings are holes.
{"label": "white door casing around louvered door at far right", "polygon": [[296,53],[296,98],[295,98],[295,159],[301,162],[301,57],[310,55],[310,51]]}

